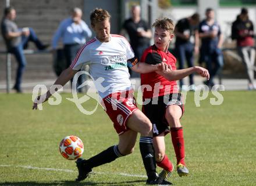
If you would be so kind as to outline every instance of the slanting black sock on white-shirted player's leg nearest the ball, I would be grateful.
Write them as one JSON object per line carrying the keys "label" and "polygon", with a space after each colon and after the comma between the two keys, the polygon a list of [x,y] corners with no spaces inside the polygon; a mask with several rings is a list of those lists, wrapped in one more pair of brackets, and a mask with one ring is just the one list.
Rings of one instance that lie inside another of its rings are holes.
{"label": "slanting black sock on white-shirted player's leg nearest the ball", "polygon": [[86,167],[88,169],[93,169],[93,167],[110,163],[121,156],[123,155],[119,152],[118,145],[115,145],[88,159],[86,161]]}

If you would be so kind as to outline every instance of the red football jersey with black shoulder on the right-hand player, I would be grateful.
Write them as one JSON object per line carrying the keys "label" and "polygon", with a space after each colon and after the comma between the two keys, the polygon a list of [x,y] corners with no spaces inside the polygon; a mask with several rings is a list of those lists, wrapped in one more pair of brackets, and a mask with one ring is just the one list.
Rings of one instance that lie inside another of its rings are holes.
{"label": "red football jersey with black shoulder on the right-hand player", "polygon": [[[158,64],[163,61],[164,63],[170,64],[172,70],[176,70],[176,58],[173,54],[169,51],[163,52],[155,45],[150,46],[144,51],[140,61],[148,64]],[[179,92],[176,81],[168,81],[156,72],[141,74],[140,76],[143,99]],[[150,85],[151,88],[147,88],[147,85]]]}

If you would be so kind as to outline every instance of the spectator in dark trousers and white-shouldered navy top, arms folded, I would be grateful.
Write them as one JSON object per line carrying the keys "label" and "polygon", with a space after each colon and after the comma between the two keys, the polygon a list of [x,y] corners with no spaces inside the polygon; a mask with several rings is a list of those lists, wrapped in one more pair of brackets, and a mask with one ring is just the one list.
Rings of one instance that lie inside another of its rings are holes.
{"label": "spectator in dark trousers and white-shouldered navy top, arms folded", "polygon": [[205,11],[206,19],[199,25],[199,37],[201,38],[200,63],[205,62],[210,78],[204,82],[209,87],[214,86],[214,77],[223,67],[222,43],[223,35],[221,27],[214,19],[214,10]]}

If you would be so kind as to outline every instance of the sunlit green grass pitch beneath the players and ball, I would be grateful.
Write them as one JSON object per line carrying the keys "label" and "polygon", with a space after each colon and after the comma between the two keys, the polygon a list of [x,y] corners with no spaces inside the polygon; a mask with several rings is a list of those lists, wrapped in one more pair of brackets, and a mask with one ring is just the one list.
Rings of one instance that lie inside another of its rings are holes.
{"label": "sunlit green grass pitch beneath the players and ball", "polygon": [[[188,177],[176,172],[169,181],[179,186],[256,185],[256,92],[221,92],[221,105],[211,105],[209,94],[194,103],[188,93],[182,118]],[[60,105],[45,103],[33,111],[31,94],[0,94],[0,186],[1,185],[145,185],[146,178],[138,143],[133,154],[95,167],[95,174],[74,182],[74,161],[58,151],[61,139],[76,135],[83,140],[83,158],[118,142],[112,122],[101,107],[84,115],[63,93]],[[81,95],[80,95],[81,96]],[[93,110],[95,101],[83,104]],[[137,140],[138,141],[138,140]],[[176,163],[170,135],[167,154]],[[158,168],[158,172],[161,169]]]}

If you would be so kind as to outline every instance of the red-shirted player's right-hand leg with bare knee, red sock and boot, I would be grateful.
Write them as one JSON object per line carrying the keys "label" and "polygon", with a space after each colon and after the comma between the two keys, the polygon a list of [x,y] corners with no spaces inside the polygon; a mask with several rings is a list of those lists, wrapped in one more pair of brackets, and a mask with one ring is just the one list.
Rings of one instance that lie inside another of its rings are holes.
{"label": "red-shirted player's right-hand leg with bare knee, red sock and boot", "polygon": [[187,176],[189,170],[185,163],[185,147],[183,129],[180,123],[183,111],[180,105],[168,105],[166,108],[165,118],[170,125],[170,134],[172,136],[172,144],[175,149],[177,159],[177,173],[179,176]]}

